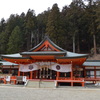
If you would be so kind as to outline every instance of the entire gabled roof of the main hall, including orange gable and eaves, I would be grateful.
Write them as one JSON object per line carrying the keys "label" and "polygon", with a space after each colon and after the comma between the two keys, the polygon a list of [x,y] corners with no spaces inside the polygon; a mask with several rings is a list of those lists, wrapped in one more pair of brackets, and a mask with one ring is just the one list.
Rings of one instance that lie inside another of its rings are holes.
{"label": "entire gabled roof of the main hall, including orange gable and eaves", "polygon": [[[10,55],[2,55],[4,60],[14,62],[14,63],[29,63],[34,62],[36,59],[54,59],[67,61],[71,59],[75,59],[78,62],[78,59],[84,58],[83,62],[87,58],[87,54],[78,54],[66,51],[59,46],[57,46],[54,42],[52,42],[47,36],[40,42],[37,46],[29,50],[28,52],[21,52],[17,54]],[[48,58],[50,57],[50,58]],[[71,60],[72,61],[72,60]]]}

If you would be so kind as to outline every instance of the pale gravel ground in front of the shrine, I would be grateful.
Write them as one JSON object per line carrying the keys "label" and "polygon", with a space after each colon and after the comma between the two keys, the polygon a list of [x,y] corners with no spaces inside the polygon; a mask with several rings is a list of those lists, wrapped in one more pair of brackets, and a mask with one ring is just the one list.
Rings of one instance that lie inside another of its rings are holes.
{"label": "pale gravel ground in front of the shrine", "polygon": [[100,100],[100,88],[34,89],[0,86],[0,100]]}

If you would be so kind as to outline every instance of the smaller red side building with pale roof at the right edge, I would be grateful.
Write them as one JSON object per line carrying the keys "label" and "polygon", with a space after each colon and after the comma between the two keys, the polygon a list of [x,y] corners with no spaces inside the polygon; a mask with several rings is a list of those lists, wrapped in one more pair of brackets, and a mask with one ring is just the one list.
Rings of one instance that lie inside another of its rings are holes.
{"label": "smaller red side building with pale roof at the right edge", "polygon": [[86,60],[83,66],[85,81],[100,81],[100,60]]}

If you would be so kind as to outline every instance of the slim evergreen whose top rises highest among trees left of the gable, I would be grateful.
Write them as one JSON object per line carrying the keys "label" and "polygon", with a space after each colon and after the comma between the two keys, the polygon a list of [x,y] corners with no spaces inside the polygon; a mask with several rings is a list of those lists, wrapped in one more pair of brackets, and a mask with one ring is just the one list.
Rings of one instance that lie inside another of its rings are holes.
{"label": "slim evergreen whose top rises highest among trees left of the gable", "polygon": [[36,21],[34,10],[29,9],[25,16],[25,23],[24,23],[27,50],[32,48],[32,35],[33,35],[34,30],[36,29],[36,26],[37,26],[36,23],[37,21]]}

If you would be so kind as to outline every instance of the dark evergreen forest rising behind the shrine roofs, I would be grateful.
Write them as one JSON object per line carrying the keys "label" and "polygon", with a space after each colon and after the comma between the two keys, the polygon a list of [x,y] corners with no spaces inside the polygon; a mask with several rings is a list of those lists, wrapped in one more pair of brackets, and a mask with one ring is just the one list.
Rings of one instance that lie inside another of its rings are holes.
{"label": "dark evergreen forest rising behind the shrine roofs", "polygon": [[75,0],[62,10],[57,4],[36,15],[35,10],[11,14],[0,21],[0,54],[31,49],[48,36],[65,50],[100,53],[100,1]]}

